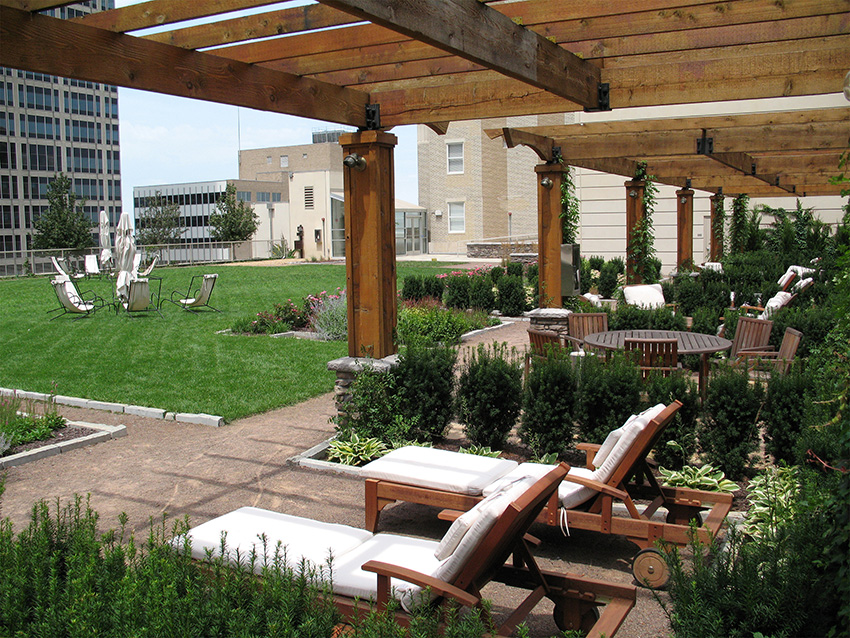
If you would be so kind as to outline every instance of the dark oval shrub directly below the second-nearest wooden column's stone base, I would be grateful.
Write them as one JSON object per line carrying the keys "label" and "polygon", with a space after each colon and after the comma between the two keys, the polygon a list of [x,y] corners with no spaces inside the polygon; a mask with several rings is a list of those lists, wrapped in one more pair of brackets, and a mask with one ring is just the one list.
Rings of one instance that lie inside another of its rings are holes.
{"label": "dark oval shrub directly below the second-nearest wooden column's stone base", "polygon": [[559,453],[573,440],[578,375],[567,353],[551,349],[532,360],[519,436],[532,453]]}

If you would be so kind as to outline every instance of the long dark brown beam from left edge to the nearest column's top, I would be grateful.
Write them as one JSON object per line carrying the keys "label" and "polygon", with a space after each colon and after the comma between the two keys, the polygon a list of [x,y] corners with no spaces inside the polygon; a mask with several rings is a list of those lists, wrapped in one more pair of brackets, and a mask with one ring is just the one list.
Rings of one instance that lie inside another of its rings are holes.
{"label": "long dark brown beam from left edge to the nearest column's top", "polygon": [[365,125],[369,96],[309,78],[0,7],[0,65]]}

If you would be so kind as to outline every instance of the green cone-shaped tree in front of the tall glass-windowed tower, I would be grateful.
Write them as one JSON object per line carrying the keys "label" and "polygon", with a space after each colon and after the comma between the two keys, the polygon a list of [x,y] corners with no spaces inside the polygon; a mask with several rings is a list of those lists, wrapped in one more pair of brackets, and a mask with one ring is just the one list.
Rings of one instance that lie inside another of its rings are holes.
{"label": "green cone-shaped tree in front of the tall glass-windowed tower", "polygon": [[94,244],[94,224],[83,212],[85,200],[78,200],[71,190],[71,180],[64,173],[54,175],[47,186],[47,211],[33,221],[33,247],[88,248]]}

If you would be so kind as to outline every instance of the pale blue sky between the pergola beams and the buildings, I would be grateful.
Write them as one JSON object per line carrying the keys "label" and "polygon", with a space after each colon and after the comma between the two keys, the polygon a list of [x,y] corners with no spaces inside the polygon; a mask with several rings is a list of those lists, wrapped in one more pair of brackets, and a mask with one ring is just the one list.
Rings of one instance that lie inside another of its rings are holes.
{"label": "pale blue sky between the pergola beams and the buildings", "polygon": [[[116,0],[115,5],[123,7],[137,2]],[[261,7],[253,12],[266,9]],[[237,12],[227,17],[250,12]],[[198,22],[150,29],[144,33]],[[134,186],[235,179],[239,177],[240,149],[309,144],[314,130],[340,128],[332,122],[121,87],[118,89],[118,115],[121,196],[127,211],[132,211]],[[416,127],[401,126],[390,133],[398,137],[396,198],[418,204]]]}

